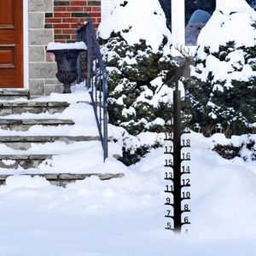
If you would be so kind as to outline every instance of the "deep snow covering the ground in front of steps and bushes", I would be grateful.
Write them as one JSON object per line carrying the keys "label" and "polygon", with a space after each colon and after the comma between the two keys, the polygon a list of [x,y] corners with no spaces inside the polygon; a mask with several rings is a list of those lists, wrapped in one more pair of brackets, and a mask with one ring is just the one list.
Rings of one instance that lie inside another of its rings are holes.
{"label": "deep snow covering the ground in front of steps and bushes", "polygon": [[190,138],[188,236],[164,229],[159,148],[135,166],[119,164],[125,177],[109,181],[90,177],[63,189],[42,177],[9,177],[0,187],[1,255],[255,255],[256,163],[222,159],[210,149],[220,135]]}

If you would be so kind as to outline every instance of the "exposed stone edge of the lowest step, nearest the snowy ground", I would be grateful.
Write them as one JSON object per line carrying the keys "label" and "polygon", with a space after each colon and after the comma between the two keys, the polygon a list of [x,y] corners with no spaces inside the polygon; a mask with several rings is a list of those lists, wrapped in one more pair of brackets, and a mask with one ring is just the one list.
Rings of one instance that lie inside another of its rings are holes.
{"label": "exposed stone edge of the lowest step, nearest the snowy ground", "polygon": [[[56,186],[66,187],[68,183],[75,183],[77,180],[83,180],[86,177],[96,176],[101,180],[108,180],[114,177],[124,177],[124,173],[44,173],[44,174],[23,174],[31,177],[45,177],[49,183]],[[6,178],[10,174],[0,174],[0,185],[5,184]]]}

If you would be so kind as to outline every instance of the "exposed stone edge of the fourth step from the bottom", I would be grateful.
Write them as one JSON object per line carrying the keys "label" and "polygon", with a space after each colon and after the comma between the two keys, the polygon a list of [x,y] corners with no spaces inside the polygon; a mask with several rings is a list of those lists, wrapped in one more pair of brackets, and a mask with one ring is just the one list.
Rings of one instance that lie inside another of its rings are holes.
{"label": "exposed stone edge of the fourth step from the bottom", "polygon": [[32,125],[74,125],[70,119],[0,119],[0,128],[11,131],[27,131]]}

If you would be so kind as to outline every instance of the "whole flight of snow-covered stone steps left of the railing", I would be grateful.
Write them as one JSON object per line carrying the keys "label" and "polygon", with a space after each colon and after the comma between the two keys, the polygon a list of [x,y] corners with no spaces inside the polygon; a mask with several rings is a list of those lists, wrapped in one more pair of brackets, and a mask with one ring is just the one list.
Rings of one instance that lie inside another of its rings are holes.
{"label": "whole flight of snow-covered stone steps left of the railing", "polygon": [[9,175],[47,175],[58,185],[93,175],[123,176],[126,167],[111,156],[120,154],[115,143],[103,163],[89,92],[84,84],[72,90],[35,100],[6,102],[0,97],[0,184]]}

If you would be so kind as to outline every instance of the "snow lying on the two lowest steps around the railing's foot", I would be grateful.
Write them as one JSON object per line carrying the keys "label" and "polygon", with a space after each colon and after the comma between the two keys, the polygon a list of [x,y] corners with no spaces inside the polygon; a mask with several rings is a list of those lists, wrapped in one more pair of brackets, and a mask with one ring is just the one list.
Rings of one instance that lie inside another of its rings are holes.
{"label": "snow lying on the two lowest steps around the railing's foot", "polygon": [[15,150],[1,144],[0,154],[4,160],[15,160],[24,155],[49,155],[40,162],[38,166],[26,169],[24,166],[17,168],[0,168],[0,174],[29,174],[29,173],[122,173],[126,170],[125,166],[113,158],[113,153],[120,153],[115,148],[116,143],[110,143],[110,156],[103,163],[101,141],[77,142],[66,144],[63,142],[32,144],[32,148]]}

